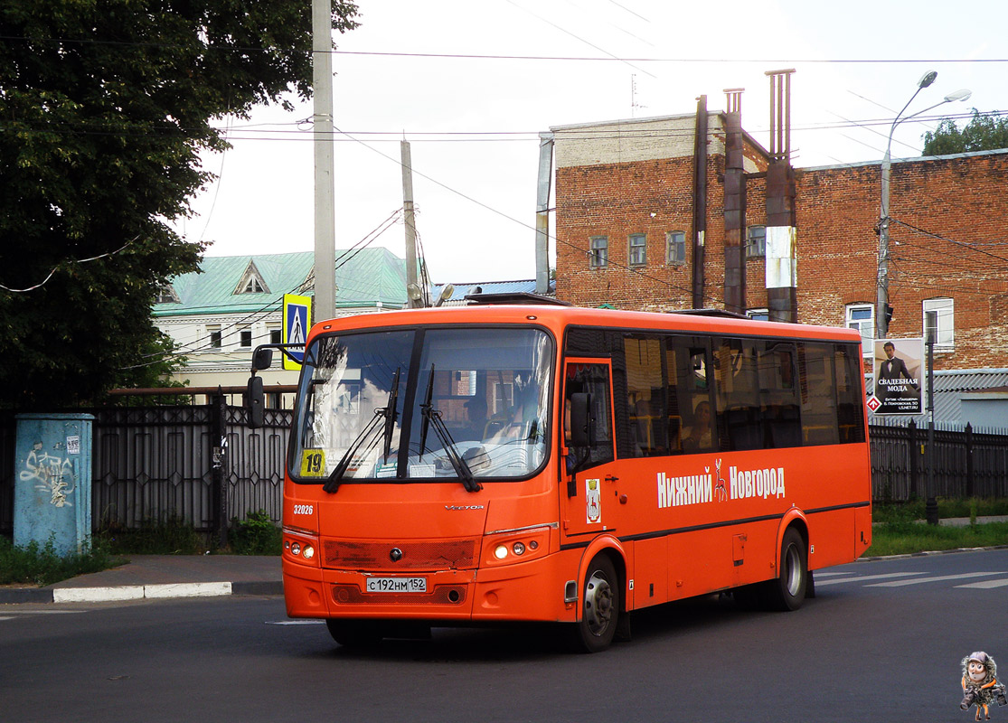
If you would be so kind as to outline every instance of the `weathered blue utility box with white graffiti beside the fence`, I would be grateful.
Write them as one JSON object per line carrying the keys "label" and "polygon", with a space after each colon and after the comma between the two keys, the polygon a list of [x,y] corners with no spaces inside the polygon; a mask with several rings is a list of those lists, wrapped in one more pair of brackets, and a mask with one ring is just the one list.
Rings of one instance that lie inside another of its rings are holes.
{"label": "weathered blue utility box with white graffiti beside the fence", "polygon": [[52,537],[59,555],[91,536],[92,414],[18,414],[14,545]]}

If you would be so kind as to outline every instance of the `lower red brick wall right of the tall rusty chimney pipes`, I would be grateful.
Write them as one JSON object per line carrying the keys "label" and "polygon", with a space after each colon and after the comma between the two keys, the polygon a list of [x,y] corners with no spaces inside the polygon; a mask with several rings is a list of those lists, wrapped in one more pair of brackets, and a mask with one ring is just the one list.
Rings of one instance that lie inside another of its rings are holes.
{"label": "lower red brick wall right of the tall rusty chimney pipes", "polygon": [[[893,163],[890,337],[923,335],[923,302],[955,304],[955,350],[938,368],[1008,366],[1008,151]],[[798,310],[839,325],[875,304],[880,167],[797,171]],[[998,245],[1000,244],[1000,245]]]}

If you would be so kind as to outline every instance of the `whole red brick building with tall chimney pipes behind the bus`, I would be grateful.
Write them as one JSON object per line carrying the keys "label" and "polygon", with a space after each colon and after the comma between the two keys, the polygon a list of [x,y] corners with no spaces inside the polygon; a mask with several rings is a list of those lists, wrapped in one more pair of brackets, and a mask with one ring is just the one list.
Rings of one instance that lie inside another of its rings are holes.
{"label": "whole red brick building with tall chimney pipes behind the bus", "polygon": [[[551,129],[557,298],[645,311],[725,308],[730,114],[704,113],[703,150],[700,112]],[[744,308],[766,318],[774,158],[744,131],[742,148]],[[892,164],[889,337],[922,336],[933,312],[936,368],[1008,367],[1006,182],[1008,149]],[[798,322],[856,326],[871,340],[880,185],[877,161],[794,169]]]}

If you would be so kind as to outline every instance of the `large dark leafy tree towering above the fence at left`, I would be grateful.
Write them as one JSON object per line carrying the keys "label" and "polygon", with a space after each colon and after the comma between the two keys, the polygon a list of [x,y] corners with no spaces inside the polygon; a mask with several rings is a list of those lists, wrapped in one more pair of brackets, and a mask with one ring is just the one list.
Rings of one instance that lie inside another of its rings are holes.
{"label": "large dark leafy tree towering above the fence at left", "polygon": [[0,4],[0,406],[93,402],[156,366],[155,294],[203,252],[166,222],[213,178],[211,121],[310,81],[308,0]]}

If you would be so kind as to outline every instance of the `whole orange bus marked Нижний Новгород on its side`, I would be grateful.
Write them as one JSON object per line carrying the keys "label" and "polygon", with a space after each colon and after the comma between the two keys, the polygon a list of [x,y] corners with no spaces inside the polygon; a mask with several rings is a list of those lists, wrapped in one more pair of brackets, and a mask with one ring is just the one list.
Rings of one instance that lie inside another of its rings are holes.
{"label": "whole orange bus marked \u041d\u0438\u0436\u043d\u0438\u0439 \u041d\u043e\u0432\u0433\u043e\u0440\u043e\u0434 on its side", "polygon": [[341,644],[549,621],[597,651],[680,598],[796,609],[871,544],[861,354],[847,329],[555,303],[319,323],[287,613]]}

